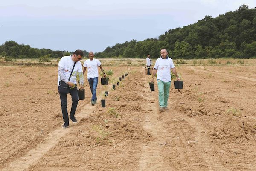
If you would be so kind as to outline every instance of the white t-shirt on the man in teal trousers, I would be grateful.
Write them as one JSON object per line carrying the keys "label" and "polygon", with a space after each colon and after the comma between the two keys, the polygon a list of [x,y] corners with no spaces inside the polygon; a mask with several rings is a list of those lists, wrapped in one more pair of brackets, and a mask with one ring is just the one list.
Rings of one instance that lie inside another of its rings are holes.
{"label": "white t-shirt on the man in teal trousers", "polygon": [[171,81],[171,68],[174,68],[171,58],[158,58],[154,68],[157,69],[157,80],[161,80],[163,82]]}

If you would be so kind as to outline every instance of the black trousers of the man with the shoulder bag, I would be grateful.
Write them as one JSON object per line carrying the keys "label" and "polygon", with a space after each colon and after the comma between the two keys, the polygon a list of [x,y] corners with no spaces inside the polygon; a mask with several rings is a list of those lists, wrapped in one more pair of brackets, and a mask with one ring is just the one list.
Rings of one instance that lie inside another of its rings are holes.
{"label": "black trousers of the man with the shoulder bag", "polygon": [[[69,123],[68,113],[67,113],[67,94],[62,94],[62,93],[59,93],[59,94],[60,94],[60,98],[61,98],[61,110],[62,110],[63,120],[64,120],[64,122]],[[70,118],[73,118],[75,116],[76,107],[78,104],[77,87],[70,89],[70,95],[72,98]]]}

